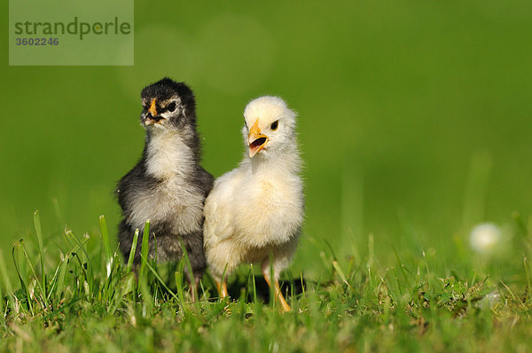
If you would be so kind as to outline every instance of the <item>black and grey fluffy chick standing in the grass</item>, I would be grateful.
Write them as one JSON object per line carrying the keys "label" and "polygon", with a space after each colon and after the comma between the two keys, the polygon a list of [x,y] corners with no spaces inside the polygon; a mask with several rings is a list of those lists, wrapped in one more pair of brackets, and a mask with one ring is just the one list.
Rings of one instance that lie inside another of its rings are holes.
{"label": "black and grey fluffy chick standing in the grass", "polygon": [[[214,178],[200,166],[195,99],[189,87],[169,78],[145,87],[141,98],[144,152],[116,191],[123,216],[121,252],[129,257],[135,230],[142,233],[150,219],[150,256],[155,256],[156,244],[158,262],[178,261],[183,242],[197,282],[206,268],[203,203]],[[135,263],[140,263],[141,244],[139,237]]]}

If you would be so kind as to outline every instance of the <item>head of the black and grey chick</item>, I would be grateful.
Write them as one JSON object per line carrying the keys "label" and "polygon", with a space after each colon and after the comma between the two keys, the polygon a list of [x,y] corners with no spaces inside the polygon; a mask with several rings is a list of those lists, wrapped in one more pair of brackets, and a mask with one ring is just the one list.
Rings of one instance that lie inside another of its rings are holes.
{"label": "head of the black and grey chick", "polygon": [[142,90],[141,125],[148,131],[181,129],[195,124],[196,102],[192,90],[168,77]]}

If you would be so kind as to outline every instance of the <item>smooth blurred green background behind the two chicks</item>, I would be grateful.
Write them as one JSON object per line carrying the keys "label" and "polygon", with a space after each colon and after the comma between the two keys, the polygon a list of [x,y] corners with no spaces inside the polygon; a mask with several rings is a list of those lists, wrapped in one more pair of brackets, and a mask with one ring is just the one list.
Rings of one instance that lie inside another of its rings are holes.
{"label": "smooth blurred green background behind the two chicks", "polygon": [[9,67],[5,19],[4,257],[35,209],[50,247],[65,224],[98,234],[103,214],[116,229],[114,185],[144,143],[140,90],[168,75],[195,91],[215,176],[241,159],[250,99],[299,113],[296,269],[317,266],[325,240],[364,254],[370,233],[382,262],[415,243],[452,267],[473,224],[532,214],[531,15],[525,1],[137,0],[134,67]]}

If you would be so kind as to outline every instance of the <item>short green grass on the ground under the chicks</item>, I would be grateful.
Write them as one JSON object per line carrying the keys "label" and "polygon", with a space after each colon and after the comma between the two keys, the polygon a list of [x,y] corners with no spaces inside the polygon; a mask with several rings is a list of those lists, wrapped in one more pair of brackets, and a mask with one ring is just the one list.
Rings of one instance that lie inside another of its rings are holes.
{"label": "short green grass on the ground under the chicks", "polygon": [[512,235],[523,252],[504,261],[460,255],[459,242],[453,256],[411,243],[383,265],[371,235],[363,255],[341,259],[324,242],[316,277],[284,273],[289,313],[250,266],[231,276],[232,301],[217,300],[206,275],[190,302],[186,260],[161,266],[143,255],[136,281],[103,216],[100,227],[91,236],[66,229],[58,255],[35,213],[35,238],[12,247],[16,285],[0,257],[1,351],[498,352],[532,339],[532,228],[519,216]]}

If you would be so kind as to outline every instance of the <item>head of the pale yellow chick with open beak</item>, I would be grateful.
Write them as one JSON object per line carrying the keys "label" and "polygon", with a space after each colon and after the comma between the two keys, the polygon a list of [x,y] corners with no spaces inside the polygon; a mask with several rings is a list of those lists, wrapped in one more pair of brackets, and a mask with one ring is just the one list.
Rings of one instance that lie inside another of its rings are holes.
{"label": "head of the pale yellow chick with open beak", "polygon": [[246,125],[242,128],[249,157],[283,153],[295,142],[295,113],[278,97],[260,97],[244,110]]}

